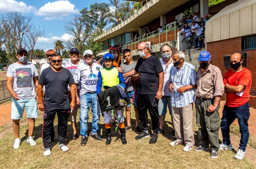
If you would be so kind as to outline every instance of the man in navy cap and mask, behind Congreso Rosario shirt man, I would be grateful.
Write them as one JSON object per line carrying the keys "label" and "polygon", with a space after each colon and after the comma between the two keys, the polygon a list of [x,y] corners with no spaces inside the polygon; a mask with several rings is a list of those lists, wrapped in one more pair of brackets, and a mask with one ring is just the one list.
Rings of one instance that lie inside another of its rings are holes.
{"label": "man in navy cap and mask, behind Congreso Rosario shirt man", "polygon": [[[69,58],[71,59],[71,61],[68,61],[65,63],[65,68],[68,69],[71,74],[74,76],[75,75],[75,71],[76,68],[79,64],[83,63],[84,60],[79,59],[80,58],[80,52],[78,49],[76,48],[72,48],[69,51]],[[79,84],[76,84],[76,92],[77,92],[77,101],[79,100]],[[70,89],[68,88],[68,97],[70,98]],[[73,128],[73,140],[77,140],[78,136],[76,134],[76,115],[77,115],[77,111],[79,108],[79,102],[76,103],[75,108],[72,110],[72,112],[70,111],[70,115],[68,118],[68,122],[71,122],[72,124],[72,128]]]}

